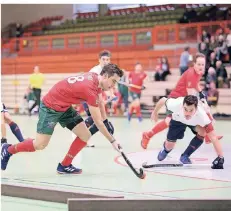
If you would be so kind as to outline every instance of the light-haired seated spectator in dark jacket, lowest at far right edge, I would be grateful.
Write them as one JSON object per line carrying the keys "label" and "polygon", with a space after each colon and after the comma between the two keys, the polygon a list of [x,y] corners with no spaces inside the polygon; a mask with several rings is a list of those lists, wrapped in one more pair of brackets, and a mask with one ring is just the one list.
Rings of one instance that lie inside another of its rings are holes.
{"label": "light-haired seated spectator in dark jacket, lowest at far right edge", "polygon": [[227,88],[227,71],[219,60],[216,62],[216,74],[217,74],[217,87],[218,88]]}

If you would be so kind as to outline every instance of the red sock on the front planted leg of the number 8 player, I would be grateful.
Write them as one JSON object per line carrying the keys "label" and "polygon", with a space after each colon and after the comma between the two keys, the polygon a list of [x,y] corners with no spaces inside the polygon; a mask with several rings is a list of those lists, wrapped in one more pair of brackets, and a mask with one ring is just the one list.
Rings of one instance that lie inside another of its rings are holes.
{"label": "red sock on the front planted leg of the number 8 player", "polygon": [[64,160],[62,161],[63,166],[69,166],[72,163],[72,160],[75,158],[75,156],[87,145],[85,141],[82,141],[79,137],[76,137],[76,139],[71,144],[71,147],[66,154]]}

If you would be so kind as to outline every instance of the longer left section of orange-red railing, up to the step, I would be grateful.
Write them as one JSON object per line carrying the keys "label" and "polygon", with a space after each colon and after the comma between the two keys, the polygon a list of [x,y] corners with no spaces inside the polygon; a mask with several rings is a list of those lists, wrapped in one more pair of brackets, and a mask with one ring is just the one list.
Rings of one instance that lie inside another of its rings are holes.
{"label": "longer left section of orange-red railing, up to the step", "polygon": [[92,49],[131,50],[152,46],[152,28],[106,31],[96,33],[62,34],[54,36],[23,37],[12,39],[11,51],[20,54],[75,53]]}

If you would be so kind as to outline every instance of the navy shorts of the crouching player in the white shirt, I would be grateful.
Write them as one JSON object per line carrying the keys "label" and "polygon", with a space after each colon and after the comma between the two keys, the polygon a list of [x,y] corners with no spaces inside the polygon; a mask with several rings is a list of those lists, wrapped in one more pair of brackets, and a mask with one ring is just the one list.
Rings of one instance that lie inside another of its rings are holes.
{"label": "navy shorts of the crouching player in the white shirt", "polygon": [[171,119],[167,134],[168,141],[176,142],[177,139],[184,138],[184,132],[187,127],[189,127],[194,134],[197,134],[195,126],[186,125],[182,122]]}

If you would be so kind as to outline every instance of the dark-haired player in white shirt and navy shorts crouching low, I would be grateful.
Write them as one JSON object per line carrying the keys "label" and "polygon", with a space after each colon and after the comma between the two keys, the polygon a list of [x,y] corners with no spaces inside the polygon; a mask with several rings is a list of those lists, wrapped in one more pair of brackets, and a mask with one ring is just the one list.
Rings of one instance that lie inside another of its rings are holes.
{"label": "dark-haired player in white shirt and navy shorts crouching low", "polygon": [[[158,160],[164,160],[168,153],[175,147],[177,139],[184,138],[184,132],[187,127],[195,132],[205,128],[218,156],[212,163],[212,169],[223,169],[224,157],[220,141],[215,134],[212,121],[209,119],[204,108],[198,104],[198,98],[188,95],[177,99],[162,98],[161,102],[158,108],[161,108],[165,104],[166,109],[172,112],[172,119],[169,124],[167,140],[164,142],[164,148],[158,154]],[[158,115],[157,112],[155,114]],[[196,134],[190,144],[197,143],[198,138],[200,139],[198,134]]]}

